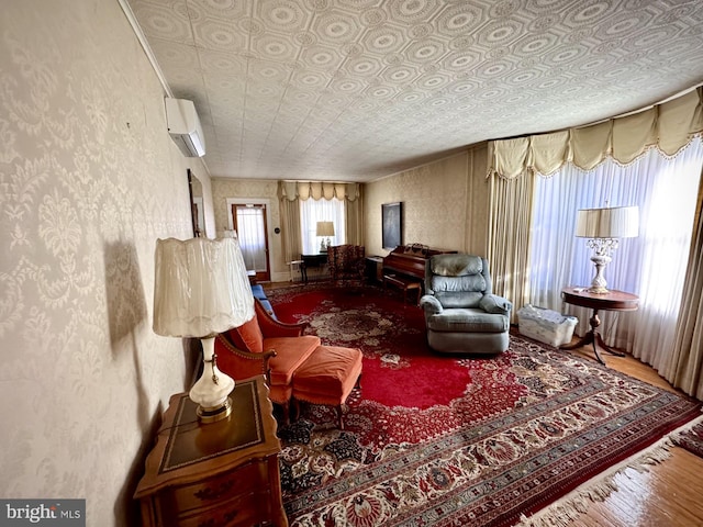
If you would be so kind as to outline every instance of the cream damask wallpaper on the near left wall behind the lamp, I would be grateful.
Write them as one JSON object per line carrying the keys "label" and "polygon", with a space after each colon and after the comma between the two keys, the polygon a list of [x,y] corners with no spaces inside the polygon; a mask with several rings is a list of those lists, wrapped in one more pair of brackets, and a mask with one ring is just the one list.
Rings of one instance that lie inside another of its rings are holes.
{"label": "cream damask wallpaper on the near left wall behind the lamp", "polygon": [[116,1],[3,2],[0,38],[0,496],[129,525],[189,377],[152,330],[155,240],[192,235],[188,160]]}

